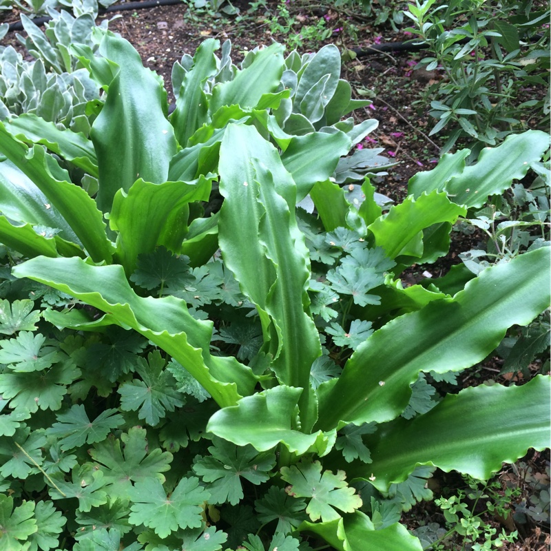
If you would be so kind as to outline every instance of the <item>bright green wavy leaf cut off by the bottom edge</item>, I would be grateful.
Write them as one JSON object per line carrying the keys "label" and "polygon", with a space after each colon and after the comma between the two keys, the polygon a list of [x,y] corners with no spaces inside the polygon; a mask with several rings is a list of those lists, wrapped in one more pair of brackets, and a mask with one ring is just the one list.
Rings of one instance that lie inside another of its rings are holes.
{"label": "bright green wavy leaf cut off by the bottom edge", "polygon": [[371,519],[361,511],[330,522],[303,522],[300,532],[313,532],[338,551],[422,551],[419,540],[400,523],[375,530]]}

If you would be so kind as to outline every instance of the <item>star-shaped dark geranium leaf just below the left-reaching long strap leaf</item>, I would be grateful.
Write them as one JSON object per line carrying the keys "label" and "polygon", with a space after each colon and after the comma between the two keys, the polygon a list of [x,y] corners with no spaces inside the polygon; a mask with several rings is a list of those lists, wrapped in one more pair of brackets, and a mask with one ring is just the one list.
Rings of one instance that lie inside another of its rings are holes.
{"label": "star-shaped dark geranium leaf just below the left-reaching long strap leaf", "polygon": [[174,388],[176,380],[165,369],[165,360],[158,350],[145,358],[136,359],[136,371],[142,380],[133,379],[118,388],[121,409],[138,411],[138,417],[150,426],[156,426],[167,411],[185,404],[184,396]]}

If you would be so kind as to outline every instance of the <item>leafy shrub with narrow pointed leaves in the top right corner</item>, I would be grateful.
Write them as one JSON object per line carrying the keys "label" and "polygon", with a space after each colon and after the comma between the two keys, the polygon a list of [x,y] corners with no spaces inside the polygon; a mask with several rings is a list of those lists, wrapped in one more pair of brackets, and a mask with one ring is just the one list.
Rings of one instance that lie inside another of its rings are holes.
{"label": "leafy shrub with narrow pointed leaves in the top right corner", "polygon": [[[459,136],[481,146],[495,145],[511,132],[526,129],[534,117],[547,127],[549,28],[543,23],[549,12],[532,12],[530,6],[514,0],[499,6],[478,0],[449,5],[426,0],[404,12],[415,23],[407,31],[430,50],[416,68],[441,67],[445,73],[426,94],[436,94],[430,114],[439,119],[430,134],[446,129],[450,136],[444,151]],[[532,85],[543,88],[545,95],[519,99]]]}

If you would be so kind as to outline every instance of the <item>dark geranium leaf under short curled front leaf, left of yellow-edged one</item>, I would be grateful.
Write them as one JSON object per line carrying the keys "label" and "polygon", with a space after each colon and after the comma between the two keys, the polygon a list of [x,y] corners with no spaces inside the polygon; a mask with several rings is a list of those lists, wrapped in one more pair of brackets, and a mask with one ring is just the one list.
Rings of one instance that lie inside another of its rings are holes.
{"label": "dark geranium leaf under short curled front leaf, left of yellow-edged one", "polygon": [[239,503],[241,477],[257,485],[269,479],[268,472],[275,465],[273,453],[258,453],[252,446],[236,446],[221,438],[214,438],[213,444],[210,455],[199,457],[193,466],[196,475],[211,483],[209,503]]}

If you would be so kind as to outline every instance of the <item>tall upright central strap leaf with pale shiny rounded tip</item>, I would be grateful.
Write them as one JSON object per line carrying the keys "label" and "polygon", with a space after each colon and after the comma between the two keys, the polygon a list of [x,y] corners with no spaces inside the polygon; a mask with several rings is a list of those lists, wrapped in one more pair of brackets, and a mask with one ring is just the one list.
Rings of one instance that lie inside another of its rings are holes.
{"label": "tall upright central strap leaf with pale shiny rounded tip", "polygon": [[271,348],[273,369],[282,384],[306,390],[300,397],[304,416],[310,368],[321,346],[305,311],[310,271],[295,219],[295,184],[275,148],[247,125],[227,128],[219,171],[225,197],[218,233],[222,256],[264,317],[265,338],[266,315],[272,320],[277,332],[272,338],[277,344]]}

